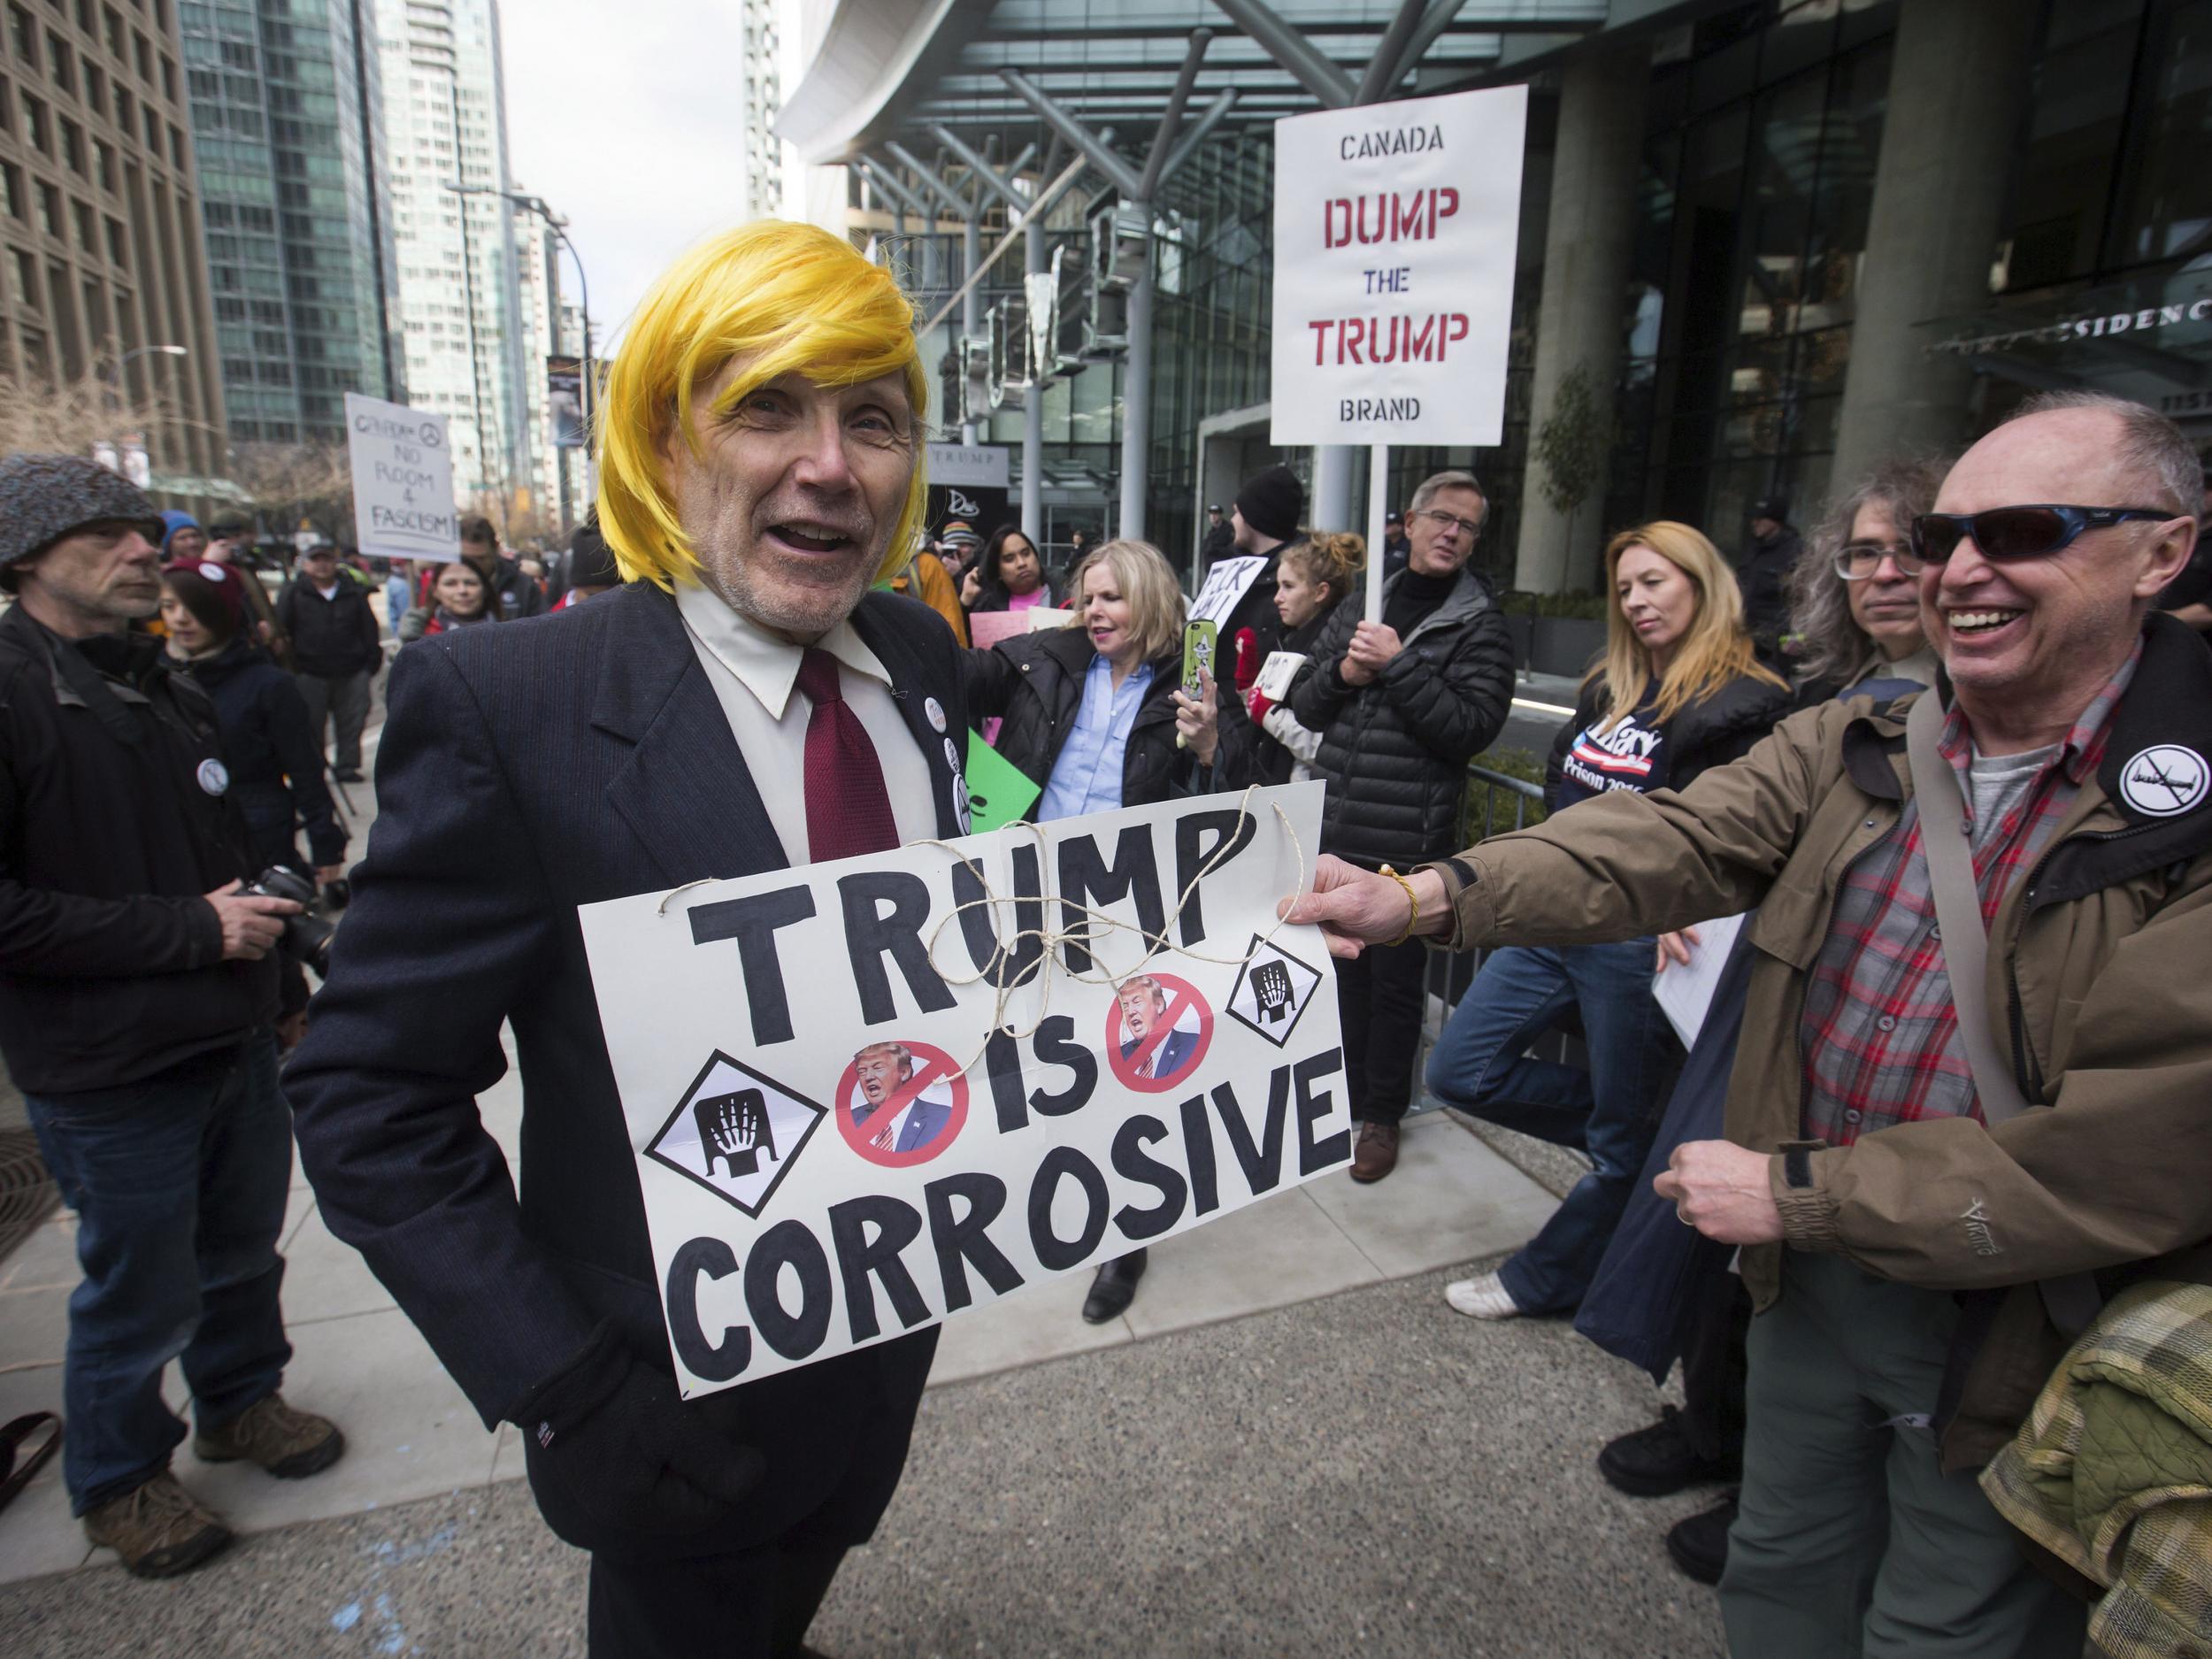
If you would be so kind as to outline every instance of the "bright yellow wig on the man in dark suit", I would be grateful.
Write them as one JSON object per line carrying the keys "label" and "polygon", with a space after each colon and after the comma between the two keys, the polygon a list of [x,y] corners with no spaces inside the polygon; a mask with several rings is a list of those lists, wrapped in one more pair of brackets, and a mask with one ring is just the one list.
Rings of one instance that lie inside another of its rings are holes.
{"label": "bright yellow wig on the man in dark suit", "polygon": [[[891,272],[818,226],[761,219],[712,237],[653,285],[622,336],[597,414],[599,531],[626,582],[697,580],[699,555],[661,480],[670,431],[692,438],[692,394],[734,356],[752,356],[714,400],[734,407],[779,374],[856,385],[902,374],[914,405],[914,482],[883,551],[885,571],[914,551],[929,493],[920,431],[929,378],[914,343],[914,305]],[[878,571],[880,580],[883,571]]]}

